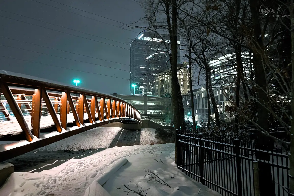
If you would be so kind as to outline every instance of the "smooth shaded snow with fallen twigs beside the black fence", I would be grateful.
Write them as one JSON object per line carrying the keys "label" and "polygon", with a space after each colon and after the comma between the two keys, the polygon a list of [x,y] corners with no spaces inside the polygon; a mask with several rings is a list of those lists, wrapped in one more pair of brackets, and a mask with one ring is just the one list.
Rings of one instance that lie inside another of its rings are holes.
{"label": "smooth shaded snow with fallen twigs beside the black fence", "polygon": [[[145,195],[148,189],[146,196],[219,196],[217,192],[193,180],[177,168],[174,163],[174,144],[160,144],[160,146],[169,146],[166,149],[157,149],[153,148],[153,146],[148,148],[148,153],[140,153],[128,157],[128,163],[109,178],[103,188],[110,195],[116,196],[125,196],[126,188],[131,190],[131,193],[134,193],[132,191],[143,191],[141,192],[142,195]],[[150,173],[146,171],[153,172],[153,176],[148,175]],[[155,180],[150,180],[156,178],[160,182],[164,181],[163,183],[166,183],[170,187]]]}

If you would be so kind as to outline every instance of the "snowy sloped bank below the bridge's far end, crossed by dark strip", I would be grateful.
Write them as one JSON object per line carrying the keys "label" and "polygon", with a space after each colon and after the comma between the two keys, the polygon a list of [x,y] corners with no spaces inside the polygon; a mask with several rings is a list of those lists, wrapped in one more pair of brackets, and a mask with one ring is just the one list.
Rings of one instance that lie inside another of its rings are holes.
{"label": "snowy sloped bank below the bridge's far end, crossed by dark strip", "polygon": [[38,150],[88,150],[113,146],[160,144],[155,138],[155,129],[130,131],[122,128],[97,127],[78,135],[60,140]]}

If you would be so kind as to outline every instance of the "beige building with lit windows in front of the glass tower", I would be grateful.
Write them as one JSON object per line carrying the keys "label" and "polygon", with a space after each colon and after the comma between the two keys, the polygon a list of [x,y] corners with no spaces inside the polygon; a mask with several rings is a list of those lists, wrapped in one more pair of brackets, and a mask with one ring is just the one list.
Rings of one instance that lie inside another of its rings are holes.
{"label": "beige building with lit windows in front of the glass tower", "polygon": [[[178,81],[181,88],[181,94],[188,94],[189,88],[189,71],[187,64],[178,64]],[[171,69],[164,71],[164,74],[159,73],[158,76],[154,78],[152,94],[158,96],[171,95]]]}

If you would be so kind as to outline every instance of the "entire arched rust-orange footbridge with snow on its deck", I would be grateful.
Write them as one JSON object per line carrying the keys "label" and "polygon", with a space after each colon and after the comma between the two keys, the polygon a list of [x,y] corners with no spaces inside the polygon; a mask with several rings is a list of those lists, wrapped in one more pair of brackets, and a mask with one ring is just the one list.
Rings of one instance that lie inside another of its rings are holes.
{"label": "entire arched rust-orange footbridge with snow on its deck", "polygon": [[0,162],[109,123],[141,125],[133,105],[108,94],[1,70],[0,85]]}

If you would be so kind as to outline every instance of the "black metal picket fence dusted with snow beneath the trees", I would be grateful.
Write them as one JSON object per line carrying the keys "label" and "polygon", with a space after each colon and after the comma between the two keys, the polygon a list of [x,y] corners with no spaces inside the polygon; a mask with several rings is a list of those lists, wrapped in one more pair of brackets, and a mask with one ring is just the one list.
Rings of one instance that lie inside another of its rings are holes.
{"label": "black metal picket fence dusted with snow beneath the trees", "polygon": [[[177,166],[189,177],[201,182],[221,195],[254,195],[253,161],[271,168],[275,195],[288,195],[289,160],[285,153],[253,148],[254,141],[235,140],[221,143],[177,133]],[[267,160],[255,155],[266,154]]]}

